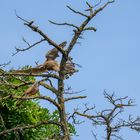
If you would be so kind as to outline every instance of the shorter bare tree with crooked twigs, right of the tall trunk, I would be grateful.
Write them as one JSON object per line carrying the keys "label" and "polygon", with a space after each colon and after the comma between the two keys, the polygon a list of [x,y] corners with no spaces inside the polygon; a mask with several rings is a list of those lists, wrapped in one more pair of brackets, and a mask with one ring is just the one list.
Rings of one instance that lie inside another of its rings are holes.
{"label": "shorter bare tree with crooked twigs, right of the tall trunk", "polygon": [[120,129],[123,127],[127,127],[137,132],[140,132],[140,118],[139,117],[137,117],[136,119],[133,119],[131,116],[129,116],[128,121],[117,118],[117,121],[116,121],[116,116],[118,116],[120,113],[123,112],[124,107],[134,106],[131,100],[127,100],[127,96],[123,98],[116,98],[114,94],[109,95],[105,92],[104,97],[108,99],[108,101],[113,105],[112,109],[105,109],[105,110],[102,110],[101,112],[95,113],[95,115],[91,115],[87,113],[87,111],[90,110],[90,108],[87,107],[87,105],[85,105],[85,109],[82,113],[76,110],[73,114],[80,115],[80,116],[90,119],[93,125],[95,126],[97,125],[105,126],[106,139],[108,140],[111,139],[111,137],[122,139],[116,133],[119,132]]}

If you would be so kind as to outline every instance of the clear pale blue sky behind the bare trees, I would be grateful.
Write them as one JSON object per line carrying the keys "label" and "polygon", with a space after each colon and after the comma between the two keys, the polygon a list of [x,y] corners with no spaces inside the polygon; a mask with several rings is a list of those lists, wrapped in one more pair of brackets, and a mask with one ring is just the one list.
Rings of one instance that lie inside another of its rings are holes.
{"label": "clear pale blue sky behind the bare trees", "polygon": [[[104,1],[104,0],[103,0]],[[93,2],[93,0],[89,0]],[[83,18],[74,15],[67,8],[69,4],[83,11],[85,0],[1,0],[0,2],[0,63],[11,60],[9,68],[42,63],[44,55],[51,47],[43,44],[27,52],[12,57],[15,46],[27,47],[22,42],[25,37],[35,42],[40,37],[27,29],[15,16],[14,10],[26,19],[34,20],[53,40],[58,43],[72,37],[72,29],[51,25],[48,20],[71,22],[79,25]],[[86,32],[81,45],[76,45],[71,55],[80,65],[79,73],[66,82],[75,91],[86,89],[83,101],[72,101],[67,105],[69,111],[83,103],[96,104],[97,110],[108,107],[103,91],[115,92],[118,97],[129,96],[135,99],[137,106],[126,112],[140,115],[140,1],[116,0],[98,14],[90,23],[97,32]],[[45,102],[42,103],[45,106]],[[47,107],[47,106],[46,106]],[[74,140],[92,140],[93,126],[86,122],[77,126],[79,137]],[[101,134],[102,130],[97,129]],[[140,135],[134,131],[123,130],[121,135],[127,140],[138,140]],[[101,137],[99,140],[102,139]]]}

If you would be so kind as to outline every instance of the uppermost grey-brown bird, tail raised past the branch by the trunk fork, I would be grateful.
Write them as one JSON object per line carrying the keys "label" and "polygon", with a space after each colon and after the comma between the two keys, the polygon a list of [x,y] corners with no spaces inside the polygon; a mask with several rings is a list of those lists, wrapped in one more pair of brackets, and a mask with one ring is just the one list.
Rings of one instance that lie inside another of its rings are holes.
{"label": "uppermost grey-brown bird, tail raised past the branch by the trunk fork", "polygon": [[[67,42],[64,41],[61,44],[59,44],[59,47],[64,48],[66,46]],[[49,60],[55,60],[57,57],[59,57],[58,54],[59,50],[57,48],[53,48],[45,55],[47,61]]]}

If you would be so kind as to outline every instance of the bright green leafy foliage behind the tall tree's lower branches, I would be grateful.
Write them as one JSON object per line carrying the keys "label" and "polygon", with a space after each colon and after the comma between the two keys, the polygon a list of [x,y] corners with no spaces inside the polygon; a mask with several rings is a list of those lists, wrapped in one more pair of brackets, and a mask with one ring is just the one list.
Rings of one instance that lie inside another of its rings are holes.
{"label": "bright green leafy foliage behind the tall tree's lower branches", "polygon": [[[20,78],[20,80],[19,80]],[[9,95],[21,96],[28,88],[28,85],[19,86],[22,81],[35,81],[34,77],[0,77],[4,84],[0,85],[0,132],[17,126],[34,125],[42,121],[59,121],[58,111],[50,113],[47,108],[42,108],[39,101],[24,101],[17,107],[17,100],[10,98]],[[5,82],[6,81],[6,82]],[[18,88],[17,88],[18,87]],[[75,129],[70,125],[72,133]],[[60,128],[56,125],[41,125],[33,129],[12,131],[0,137],[0,140],[43,140],[60,134]]]}

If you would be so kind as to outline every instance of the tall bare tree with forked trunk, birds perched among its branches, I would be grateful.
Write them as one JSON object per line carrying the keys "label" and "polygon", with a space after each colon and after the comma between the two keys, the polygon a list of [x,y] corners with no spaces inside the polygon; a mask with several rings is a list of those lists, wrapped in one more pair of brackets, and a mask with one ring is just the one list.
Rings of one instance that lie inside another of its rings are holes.
{"label": "tall bare tree with forked trunk, birds perched among its branches", "polygon": [[[78,39],[80,39],[85,31],[96,31],[95,27],[89,27],[88,23],[104,8],[106,8],[109,4],[113,3],[114,0],[109,0],[106,3],[102,3],[101,1],[96,4],[92,5],[88,2],[86,2],[87,9],[85,12],[80,12],[75,9],[73,9],[70,6],[67,6],[67,8],[72,11],[73,13],[84,17],[85,19],[80,25],[74,25],[72,23],[56,23],[53,21],[49,21],[50,23],[58,26],[69,26],[73,28],[73,36],[70,41],[70,43],[66,43],[66,41],[62,43],[57,43],[54,40],[52,40],[44,31],[42,31],[37,25],[35,25],[34,21],[28,21],[19,16],[16,12],[16,16],[18,19],[20,19],[22,22],[24,22],[24,25],[31,29],[33,32],[40,35],[41,39],[39,41],[36,41],[33,44],[30,44],[25,39],[23,41],[27,44],[27,48],[16,48],[16,52],[13,55],[16,55],[19,52],[27,51],[36,45],[40,45],[42,42],[46,42],[47,44],[51,45],[53,48],[51,51],[49,51],[46,55],[46,60],[43,64],[40,64],[34,68],[28,68],[26,70],[11,70],[10,72],[6,72],[1,70],[0,76],[6,77],[6,76],[13,76],[13,77],[19,77],[19,76],[34,76],[34,77],[41,77],[42,80],[37,81],[39,86],[45,87],[47,90],[50,90],[52,94],[56,96],[56,100],[54,98],[51,98],[49,96],[26,96],[26,97],[16,97],[14,95],[9,95],[11,98],[15,98],[17,100],[30,100],[30,99],[43,99],[50,103],[52,103],[57,110],[59,111],[59,122],[40,122],[39,124],[35,124],[34,126],[22,126],[22,127],[16,127],[10,130],[5,130],[4,132],[0,132],[0,135],[9,133],[11,131],[17,131],[19,129],[28,129],[28,128],[35,128],[38,125],[48,125],[48,124],[55,124],[58,127],[61,128],[61,136],[59,139],[62,140],[70,140],[71,135],[69,132],[68,127],[68,117],[65,109],[65,104],[68,101],[75,100],[75,99],[83,99],[86,98],[86,96],[74,96],[74,97],[68,97],[65,98],[65,80],[67,78],[70,78],[77,70],[75,69],[75,63],[72,62],[72,58],[70,57],[70,53],[77,43]],[[87,14],[88,13],[88,14]],[[56,61],[56,58],[58,57],[58,53],[61,53],[62,57],[60,62]],[[51,72],[50,72],[51,71]],[[53,80],[57,81],[58,86],[53,86]],[[2,81],[2,84],[10,85],[11,88],[18,88],[20,86],[25,86],[29,84],[34,84],[33,81],[31,82],[25,82],[21,81],[22,84],[20,85],[11,85],[7,81]],[[48,83],[49,82],[49,83]],[[28,89],[27,89],[28,90]],[[8,97],[7,97],[8,98]]]}

